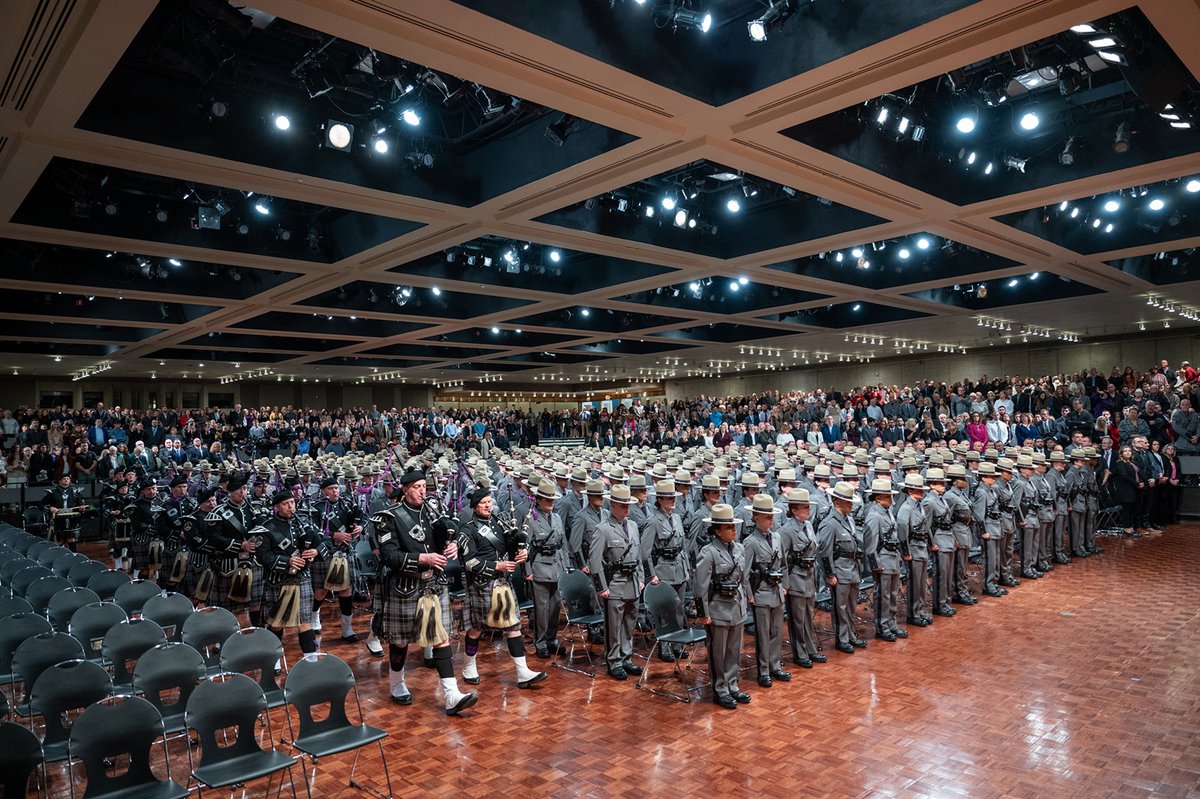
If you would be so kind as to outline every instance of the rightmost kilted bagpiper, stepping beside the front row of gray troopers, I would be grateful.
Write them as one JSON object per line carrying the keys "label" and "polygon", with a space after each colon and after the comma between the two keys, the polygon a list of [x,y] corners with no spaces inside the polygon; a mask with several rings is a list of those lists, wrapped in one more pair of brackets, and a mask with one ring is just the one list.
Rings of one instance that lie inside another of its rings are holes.
{"label": "rightmost kilted bagpiper, stepping beside the front row of gray troopers", "polygon": [[[518,530],[508,525],[493,525],[493,499],[487,488],[476,488],[468,494],[468,504],[472,516],[458,525],[457,536],[458,558],[462,560],[467,589],[463,603],[463,626],[467,630],[462,679],[469,685],[479,685],[479,667],[475,662],[479,639],[484,630],[502,630],[516,668],[517,687],[530,689],[545,680],[547,674],[533,671],[526,662],[521,615],[516,593],[512,590],[517,569],[529,559],[528,543]],[[497,607],[505,603],[509,607]]]}

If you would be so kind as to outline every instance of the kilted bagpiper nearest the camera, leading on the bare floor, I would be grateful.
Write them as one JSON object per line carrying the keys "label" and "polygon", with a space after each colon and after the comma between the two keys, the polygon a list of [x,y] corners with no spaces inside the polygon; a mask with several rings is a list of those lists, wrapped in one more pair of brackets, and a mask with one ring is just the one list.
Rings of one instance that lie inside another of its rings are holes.
{"label": "kilted bagpiper nearest the camera, leading on the bare floor", "polygon": [[[440,638],[432,641],[432,660],[445,713],[456,716],[479,698],[458,690],[450,655],[450,595],[445,567],[457,558],[458,546],[440,507],[425,499],[425,473],[406,471],[400,485],[403,499],[371,517],[379,546],[379,565],[384,570],[378,590],[380,601],[372,624],[379,639],[388,643],[389,689],[396,704],[413,703],[404,680],[408,645],[431,637]],[[431,614],[421,619],[425,629],[420,629],[418,618],[422,615],[422,603]]]}

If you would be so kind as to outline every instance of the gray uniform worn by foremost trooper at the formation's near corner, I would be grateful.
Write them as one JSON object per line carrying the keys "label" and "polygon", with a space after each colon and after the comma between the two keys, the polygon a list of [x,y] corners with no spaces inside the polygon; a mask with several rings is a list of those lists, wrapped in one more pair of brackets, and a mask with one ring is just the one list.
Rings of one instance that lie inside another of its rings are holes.
{"label": "gray uniform worn by foremost trooper at the formation's near corner", "polygon": [[726,545],[716,539],[709,541],[696,559],[691,593],[701,615],[712,619],[708,625],[708,668],[713,677],[713,695],[733,696],[738,693],[742,635],[746,597],[750,596],[750,575],[742,545],[737,541]]}

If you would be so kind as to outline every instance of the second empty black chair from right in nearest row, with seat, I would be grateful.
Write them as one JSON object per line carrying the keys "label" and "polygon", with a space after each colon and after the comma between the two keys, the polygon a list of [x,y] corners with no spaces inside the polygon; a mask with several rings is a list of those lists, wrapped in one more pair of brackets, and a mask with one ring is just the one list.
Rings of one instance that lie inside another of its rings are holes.
{"label": "second empty black chair from right in nearest row, with seat", "polygon": [[[295,777],[290,769],[296,759],[274,747],[264,750],[258,745],[254,728],[259,716],[263,716],[266,729],[265,739],[274,740],[270,716],[265,710],[263,690],[245,674],[217,674],[196,686],[187,701],[187,726],[196,731],[202,757],[196,764],[188,738],[187,761],[197,782],[209,788],[222,788],[288,769],[292,791],[295,792]],[[230,733],[232,728],[236,732]],[[224,733],[224,746],[217,744],[218,731]]]}

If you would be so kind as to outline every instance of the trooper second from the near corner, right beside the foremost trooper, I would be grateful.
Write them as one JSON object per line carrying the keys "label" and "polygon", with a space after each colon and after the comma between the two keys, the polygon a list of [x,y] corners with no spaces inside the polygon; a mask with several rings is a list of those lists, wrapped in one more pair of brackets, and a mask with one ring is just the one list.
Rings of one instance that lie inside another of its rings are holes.
{"label": "trooper second from the near corner, right beside the foremost trooper", "polygon": [[778,530],[779,509],[770,494],[760,493],[750,503],[754,529],[743,539],[754,606],[755,655],[758,685],[792,679],[784,671],[784,547]]}

